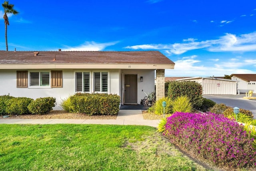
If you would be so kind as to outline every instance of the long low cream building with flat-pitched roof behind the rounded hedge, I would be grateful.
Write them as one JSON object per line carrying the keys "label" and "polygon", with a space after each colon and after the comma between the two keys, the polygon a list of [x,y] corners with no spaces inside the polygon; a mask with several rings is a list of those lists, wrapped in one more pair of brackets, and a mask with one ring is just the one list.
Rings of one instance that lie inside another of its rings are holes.
{"label": "long low cream building with flat-pitched roof behind the rounded hedge", "polygon": [[236,80],[212,77],[183,78],[176,81],[192,81],[202,85],[203,94],[234,94],[236,95]]}

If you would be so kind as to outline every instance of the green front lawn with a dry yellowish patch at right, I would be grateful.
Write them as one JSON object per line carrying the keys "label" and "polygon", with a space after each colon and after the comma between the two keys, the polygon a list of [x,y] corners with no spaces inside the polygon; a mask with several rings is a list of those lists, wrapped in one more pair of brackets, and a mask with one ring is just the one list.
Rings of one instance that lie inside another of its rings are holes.
{"label": "green front lawn with a dry yellowish patch at right", "polygon": [[156,128],[0,124],[0,168],[10,170],[206,170]]}

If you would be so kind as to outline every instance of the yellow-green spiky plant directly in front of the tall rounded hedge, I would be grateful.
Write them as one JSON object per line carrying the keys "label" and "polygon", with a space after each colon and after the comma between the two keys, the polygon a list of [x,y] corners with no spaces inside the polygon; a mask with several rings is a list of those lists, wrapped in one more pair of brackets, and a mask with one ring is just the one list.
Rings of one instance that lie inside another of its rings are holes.
{"label": "yellow-green spiky plant directly in front of the tall rounded hedge", "polygon": [[192,103],[188,96],[180,96],[174,99],[171,103],[172,112],[180,111],[185,113],[190,113],[193,110]]}

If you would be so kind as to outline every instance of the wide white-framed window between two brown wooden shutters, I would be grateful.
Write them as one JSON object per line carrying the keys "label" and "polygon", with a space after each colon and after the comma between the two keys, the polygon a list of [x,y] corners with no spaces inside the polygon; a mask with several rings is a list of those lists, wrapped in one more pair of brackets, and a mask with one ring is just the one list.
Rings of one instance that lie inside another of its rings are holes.
{"label": "wide white-framed window between two brown wooden shutters", "polygon": [[50,86],[50,72],[30,72],[30,86]]}

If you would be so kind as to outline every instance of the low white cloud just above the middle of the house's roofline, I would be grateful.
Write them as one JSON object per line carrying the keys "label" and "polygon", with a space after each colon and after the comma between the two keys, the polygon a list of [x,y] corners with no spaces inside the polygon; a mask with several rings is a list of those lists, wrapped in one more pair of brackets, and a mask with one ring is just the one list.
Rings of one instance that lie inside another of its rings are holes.
{"label": "low white cloud just above the middle of the house's roofline", "polygon": [[96,42],[85,42],[76,47],[70,47],[64,45],[64,49],[62,51],[100,51],[104,50],[108,46],[112,46],[117,44],[118,42],[108,42],[108,43],[96,43]]}

